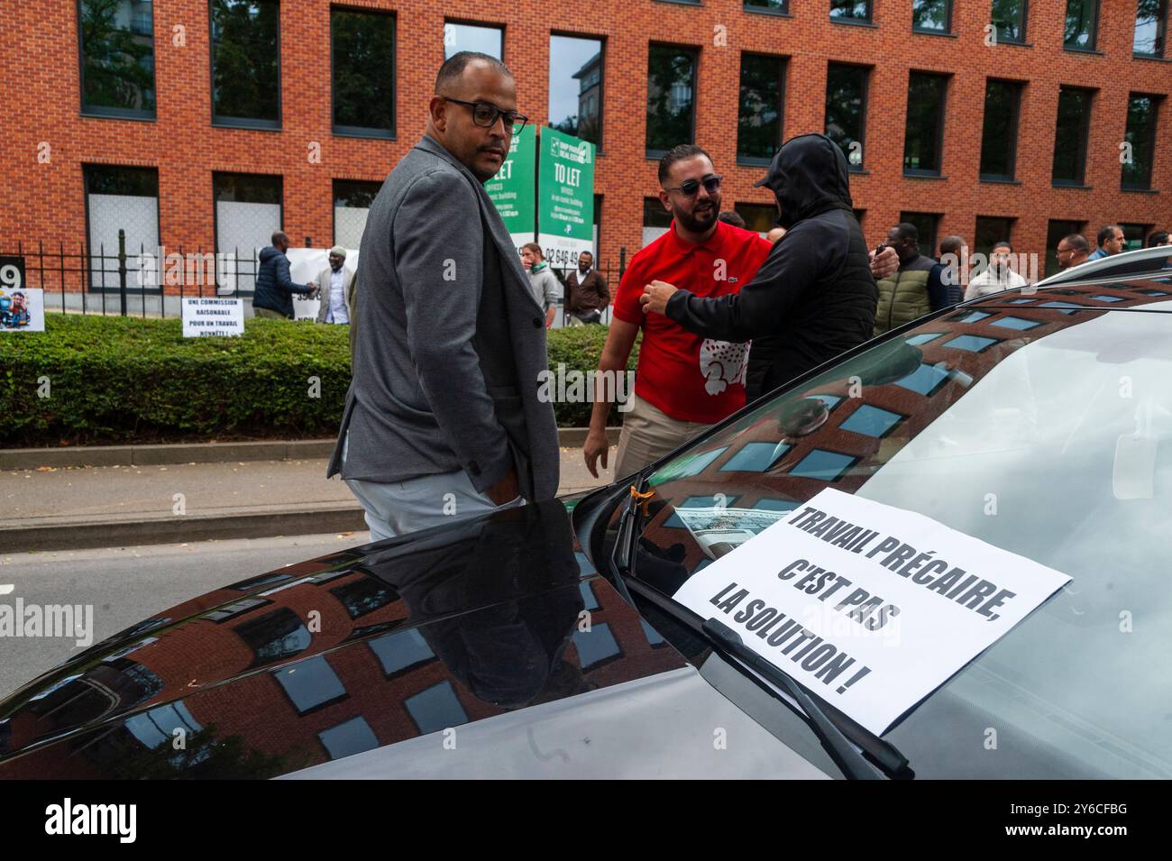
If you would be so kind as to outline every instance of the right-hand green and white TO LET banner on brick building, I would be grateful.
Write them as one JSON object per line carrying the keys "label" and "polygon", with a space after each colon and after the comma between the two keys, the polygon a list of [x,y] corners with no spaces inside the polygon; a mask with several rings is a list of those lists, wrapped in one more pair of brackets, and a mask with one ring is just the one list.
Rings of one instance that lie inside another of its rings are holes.
{"label": "right-hand green and white TO LET banner on brick building", "polygon": [[537,179],[537,241],[556,269],[594,251],[594,144],[541,128]]}

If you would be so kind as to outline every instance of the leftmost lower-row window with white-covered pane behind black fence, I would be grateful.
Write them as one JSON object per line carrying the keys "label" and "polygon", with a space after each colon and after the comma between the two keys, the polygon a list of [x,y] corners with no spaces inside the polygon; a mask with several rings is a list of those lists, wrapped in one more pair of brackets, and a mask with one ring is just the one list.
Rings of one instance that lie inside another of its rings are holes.
{"label": "leftmost lower-row window with white-covered pane behind black fence", "polygon": [[125,232],[127,283],[137,285],[142,252],[158,253],[158,171],[82,165],[89,234],[90,287],[118,287],[118,231]]}

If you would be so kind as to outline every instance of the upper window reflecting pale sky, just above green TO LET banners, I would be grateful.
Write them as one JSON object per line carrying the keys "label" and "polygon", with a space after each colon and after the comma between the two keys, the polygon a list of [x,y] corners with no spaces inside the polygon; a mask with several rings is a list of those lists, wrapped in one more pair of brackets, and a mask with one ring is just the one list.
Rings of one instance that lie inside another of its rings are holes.
{"label": "upper window reflecting pale sky, just above green TO LET banners", "polygon": [[601,39],[550,36],[550,125],[602,143]]}

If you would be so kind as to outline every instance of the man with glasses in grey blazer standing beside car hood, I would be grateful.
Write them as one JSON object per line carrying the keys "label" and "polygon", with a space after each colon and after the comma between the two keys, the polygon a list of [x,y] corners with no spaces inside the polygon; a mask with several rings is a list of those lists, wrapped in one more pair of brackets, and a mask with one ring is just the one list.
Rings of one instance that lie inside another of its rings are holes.
{"label": "man with glasses in grey blazer standing beside car hood", "polygon": [[373,540],[558,488],[553,406],[538,397],[545,320],[483,185],[525,122],[516,84],[461,52],[428,110],[362,234],[354,378],[327,473]]}

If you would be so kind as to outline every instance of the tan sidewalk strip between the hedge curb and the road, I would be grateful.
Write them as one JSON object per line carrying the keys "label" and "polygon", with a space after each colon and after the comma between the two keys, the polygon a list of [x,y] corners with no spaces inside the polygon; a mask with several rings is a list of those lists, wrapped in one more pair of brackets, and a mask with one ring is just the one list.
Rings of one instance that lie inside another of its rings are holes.
{"label": "tan sidewalk strip between the hedge curb and the road", "polygon": [[[614,465],[614,447],[609,463]],[[0,472],[0,552],[172,544],[364,531],[362,510],[326,458],[141,466],[42,466]],[[561,449],[559,493],[594,478]]]}

